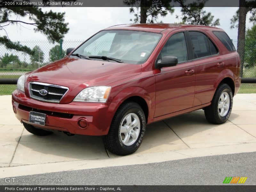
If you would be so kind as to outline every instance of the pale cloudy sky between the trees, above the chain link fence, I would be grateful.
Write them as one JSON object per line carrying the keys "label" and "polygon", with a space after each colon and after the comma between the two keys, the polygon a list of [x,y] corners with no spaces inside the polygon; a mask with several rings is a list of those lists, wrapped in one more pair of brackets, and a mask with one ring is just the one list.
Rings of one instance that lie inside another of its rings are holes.
{"label": "pale cloudy sky between the trees, above the chain link fence", "polygon": [[[118,24],[132,23],[130,19],[134,16],[129,13],[129,7],[52,7],[42,8],[43,11],[66,12],[65,20],[70,28],[64,40],[86,40],[94,33],[103,28]],[[237,39],[237,29],[230,29],[230,19],[235,14],[237,7],[205,7],[204,10],[212,12],[214,18],[220,18],[219,28],[224,29],[231,39]],[[164,18],[159,18],[164,23],[174,23],[180,20],[176,15],[181,15],[180,8],[176,7],[175,12],[168,14]],[[13,17],[16,19],[16,17]],[[247,15],[247,20],[249,16]],[[23,19],[22,19],[23,20]],[[24,20],[28,20],[24,18]],[[41,33],[35,33],[33,26],[10,25],[5,28],[11,40],[47,40]],[[246,28],[251,28],[252,23],[246,22]],[[0,30],[0,35],[6,35],[4,30]]]}

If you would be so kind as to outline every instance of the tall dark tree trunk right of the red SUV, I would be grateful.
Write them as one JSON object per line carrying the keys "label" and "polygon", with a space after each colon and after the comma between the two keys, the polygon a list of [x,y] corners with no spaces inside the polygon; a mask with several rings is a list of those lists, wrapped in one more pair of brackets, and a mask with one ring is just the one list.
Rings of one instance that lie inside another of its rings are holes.
{"label": "tall dark tree trunk right of the red SUV", "polygon": [[244,47],[245,47],[245,22],[247,9],[245,0],[239,0],[239,20],[238,20],[238,36],[237,36],[237,52],[239,53],[241,66],[240,77],[243,77],[244,69]]}

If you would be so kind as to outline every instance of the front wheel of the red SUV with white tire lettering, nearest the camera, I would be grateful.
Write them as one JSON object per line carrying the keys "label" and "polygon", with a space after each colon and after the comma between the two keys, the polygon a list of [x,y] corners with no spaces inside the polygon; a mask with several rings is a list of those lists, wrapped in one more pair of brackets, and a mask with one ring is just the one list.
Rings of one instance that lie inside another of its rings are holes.
{"label": "front wheel of the red SUV with white tire lettering, nearest the camera", "polygon": [[146,118],[140,105],[126,102],[117,109],[108,135],[103,137],[105,148],[116,155],[130,155],[140,147],[145,128]]}

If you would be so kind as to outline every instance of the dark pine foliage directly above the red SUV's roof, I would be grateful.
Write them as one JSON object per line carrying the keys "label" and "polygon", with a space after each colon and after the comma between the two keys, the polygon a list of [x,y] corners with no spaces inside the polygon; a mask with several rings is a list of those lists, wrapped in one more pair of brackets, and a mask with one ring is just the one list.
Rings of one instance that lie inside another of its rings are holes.
{"label": "dark pine foliage directly above the red SUV's roof", "polygon": [[[159,16],[165,17],[168,12],[174,12],[171,3],[178,3],[181,7],[182,22],[194,25],[217,26],[220,19],[214,19],[211,12],[203,10],[207,0],[198,0],[187,3],[187,0],[124,0],[124,3],[132,6],[130,13],[133,13],[133,23],[162,23],[158,21]],[[189,2],[189,1],[188,1]],[[135,7],[135,8],[134,8]],[[178,18],[179,16],[176,16]]]}

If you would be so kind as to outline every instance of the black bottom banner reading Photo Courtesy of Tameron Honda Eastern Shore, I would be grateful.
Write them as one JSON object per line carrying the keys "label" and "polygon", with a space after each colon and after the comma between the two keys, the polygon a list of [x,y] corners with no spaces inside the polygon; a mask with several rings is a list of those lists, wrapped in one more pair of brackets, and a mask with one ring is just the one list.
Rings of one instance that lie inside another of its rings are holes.
{"label": "black bottom banner reading Photo Courtesy of Tameron Honda Eastern Shore", "polygon": [[113,186],[56,186],[56,185],[45,185],[45,186],[0,186],[1,192],[255,192],[256,186],[244,186],[244,185],[223,185],[223,186],[189,186],[189,185],[113,185]]}

